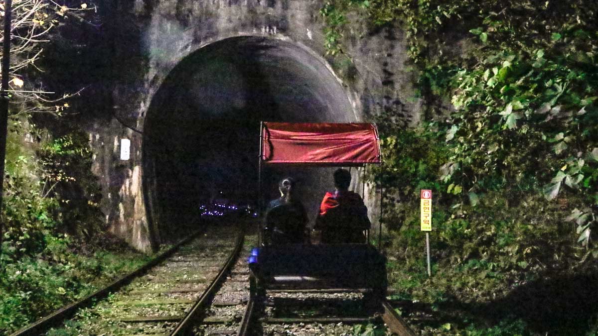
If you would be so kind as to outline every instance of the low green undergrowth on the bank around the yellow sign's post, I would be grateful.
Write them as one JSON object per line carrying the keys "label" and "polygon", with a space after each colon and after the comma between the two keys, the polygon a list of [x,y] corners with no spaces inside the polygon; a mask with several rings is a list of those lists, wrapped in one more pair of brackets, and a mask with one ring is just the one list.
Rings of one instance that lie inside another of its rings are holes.
{"label": "low green undergrowth on the bank around the yellow sign's post", "polygon": [[566,210],[492,197],[435,223],[432,277],[417,207],[404,207],[405,225],[387,237],[395,307],[425,335],[596,335],[598,260],[566,234]]}

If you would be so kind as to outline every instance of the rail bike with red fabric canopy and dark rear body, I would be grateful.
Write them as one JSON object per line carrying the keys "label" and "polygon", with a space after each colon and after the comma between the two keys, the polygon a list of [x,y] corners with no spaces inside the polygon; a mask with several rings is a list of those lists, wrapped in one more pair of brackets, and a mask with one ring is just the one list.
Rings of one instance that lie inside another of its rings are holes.
{"label": "rail bike with red fabric canopy and dark rear body", "polygon": [[[261,124],[260,194],[263,166],[364,167],[380,163],[375,124]],[[294,218],[287,216],[283,222],[292,227]],[[264,227],[273,225],[276,223],[260,225],[260,244],[248,258],[252,286],[264,290],[365,289],[376,297],[386,294],[386,258],[380,248],[370,244],[369,229],[363,232],[364,243],[273,243],[264,240]],[[377,246],[381,246],[380,236]]]}

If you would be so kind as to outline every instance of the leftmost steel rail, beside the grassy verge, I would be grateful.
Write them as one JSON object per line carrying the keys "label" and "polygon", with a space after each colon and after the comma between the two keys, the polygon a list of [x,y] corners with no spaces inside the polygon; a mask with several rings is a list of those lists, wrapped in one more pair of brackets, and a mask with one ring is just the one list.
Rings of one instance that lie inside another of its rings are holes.
{"label": "leftmost steel rail, beside the grassy verge", "polygon": [[10,336],[39,335],[41,332],[49,329],[51,326],[63,322],[64,320],[74,315],[75,311],[77,311],[78,309],[89,306],[93,300],[99,300],[101,298],[106,297],[110,292],[114,292],[120,289],[122,286],[126,285],[131,280],[144,274],[145,271],[149,270],[149,268],[152,268],[160,262],[164,261],[164,259],[168,258],[170,255],[172,255],[172,253],[176,252],[182,245],[185,245],[186,243],[190,242],[199,234],[203,233],[203,231],[205,231],[205,228],[195,231],[187,238],[182,239],[180,242],[176,243],[176,245],[172,246],[172,248],[169,248],[166,251],[160,253],[160,255],[148,261],[147,264],[139,267],[137,270],[132,271],[131,273],[121,277],[120,279],[114,280],[113,282],[109,283],[104,288],[97,290],[93,294],[90,294],[79,301],[75,301],[74,303],[68,304],[67,306],[62,307],[59,310],[56,310],[53,313],[45,317],[42,317],[36,322],[33,322],[30,325],[25,326],[16,332],[13,332],[13,334],[10,334]]}

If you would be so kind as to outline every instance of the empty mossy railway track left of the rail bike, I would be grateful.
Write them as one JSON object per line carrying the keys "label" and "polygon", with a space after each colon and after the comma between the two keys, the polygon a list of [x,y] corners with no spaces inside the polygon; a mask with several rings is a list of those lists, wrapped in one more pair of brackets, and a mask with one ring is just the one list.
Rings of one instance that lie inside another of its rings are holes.
{"label": "empty mossy railway track left of the rail bike", "polygon": [[[14,333],[17,335],[181,335],[234,265],[242,225],[210,225],[142,269],[96,292],[93,307],[78,302]],[[98,294],[99,293],[99,294]],[[92,301],[93,296],[82,301]],[[96,298],[95,300],[99,300]],[[47,329],[64,321],[57,329]]]}

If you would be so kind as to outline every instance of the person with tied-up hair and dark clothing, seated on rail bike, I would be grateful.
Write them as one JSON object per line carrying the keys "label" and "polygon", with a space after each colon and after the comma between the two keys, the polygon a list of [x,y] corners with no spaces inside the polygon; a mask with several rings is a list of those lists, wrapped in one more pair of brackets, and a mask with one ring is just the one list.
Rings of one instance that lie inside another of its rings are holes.
{"label": "person with tied-up hair and dark clothing, seated on rail bike", "polygon": [[270,201],[264,221],[266,245],[300,244],[306,241],[307,213],[295,196],[296,181],[284,178],[279,183],[280,197]]}

